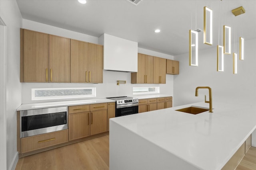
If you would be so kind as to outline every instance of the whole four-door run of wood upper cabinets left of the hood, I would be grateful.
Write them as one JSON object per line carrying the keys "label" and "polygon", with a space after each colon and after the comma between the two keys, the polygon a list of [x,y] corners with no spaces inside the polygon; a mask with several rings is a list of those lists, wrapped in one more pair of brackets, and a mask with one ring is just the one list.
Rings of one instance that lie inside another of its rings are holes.
{"label": "whole four-door run of wood upper cabinets left of the hood", "polygon": [[20,29],[20,82],[103,82],[103,46]]}

